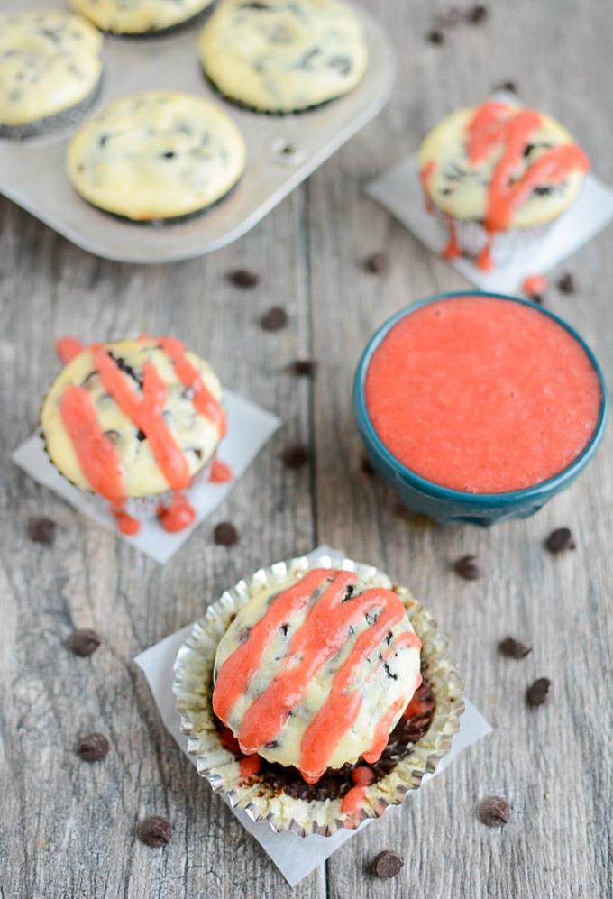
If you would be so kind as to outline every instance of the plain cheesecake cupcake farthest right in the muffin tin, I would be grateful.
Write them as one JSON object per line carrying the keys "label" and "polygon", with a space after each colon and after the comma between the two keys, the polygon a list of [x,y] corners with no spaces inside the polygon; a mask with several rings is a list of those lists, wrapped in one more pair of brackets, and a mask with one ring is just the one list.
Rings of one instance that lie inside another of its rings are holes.
{"label": "plain cheesecake cupcake farthest right in the muffin tin", "polygon": [[360,83],[368,48],[360,19],[339,0],[222,0],[199,40],[206,77],[229,100],[296,113]]}

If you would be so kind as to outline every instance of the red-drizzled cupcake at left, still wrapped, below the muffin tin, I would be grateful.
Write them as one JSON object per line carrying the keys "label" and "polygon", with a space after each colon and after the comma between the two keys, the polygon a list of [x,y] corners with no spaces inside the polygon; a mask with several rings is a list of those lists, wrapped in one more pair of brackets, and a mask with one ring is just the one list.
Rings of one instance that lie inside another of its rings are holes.
{"label": "red-drizzled cupcake at left, still wrapped, below the muffin tin", "polygon": [[174,337],[82,346],[59,341],[64,369],[41,411],[50,460],[102,497],[124,534],[157,514],[169,531],[195,518],[189,488],[225,434],[212,368]]}

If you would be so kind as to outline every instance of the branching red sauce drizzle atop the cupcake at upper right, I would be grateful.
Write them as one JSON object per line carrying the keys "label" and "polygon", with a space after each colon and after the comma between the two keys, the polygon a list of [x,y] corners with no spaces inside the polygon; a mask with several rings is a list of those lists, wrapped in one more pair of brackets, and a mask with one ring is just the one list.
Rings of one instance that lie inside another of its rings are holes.
{"label": "branching red sauce drizzle atop the cupcake at upper right", "polygon": [[471,163],[478,164],[491,151],[502,147],[488,189],[485,227],[489,231],[505,231],[517,206],[521,206],[544,181],[557,184],[572,170],[590,169],[590,161],[581,148],[574,143],[564,143],[544,151],[513,183],[530,135],[541,122],[541,116],[532,109],[520,109],[509,116],[508,106],[499,103],[484,103],[471,117],[467,128]]}

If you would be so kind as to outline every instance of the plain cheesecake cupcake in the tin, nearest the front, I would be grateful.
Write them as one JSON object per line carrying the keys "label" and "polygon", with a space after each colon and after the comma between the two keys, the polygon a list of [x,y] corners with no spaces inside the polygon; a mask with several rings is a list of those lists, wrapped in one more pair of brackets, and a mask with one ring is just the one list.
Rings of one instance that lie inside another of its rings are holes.
{"label": "plain cheesecake cupcake in the tin, nearest the front", "polygon": [[213,206],[245,170],[242,134],[219,105],[169,90],[105,106],[69,143],[68,177],[115,216],[176,222]]}

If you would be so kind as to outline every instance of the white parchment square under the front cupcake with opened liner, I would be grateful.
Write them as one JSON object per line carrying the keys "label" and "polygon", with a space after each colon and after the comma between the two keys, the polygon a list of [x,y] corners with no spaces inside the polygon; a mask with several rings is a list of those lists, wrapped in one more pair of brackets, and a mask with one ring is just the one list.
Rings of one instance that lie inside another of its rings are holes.
{"label": "white parchment square under the front cupcake with opened liner", "polygon": [[[329,546],[318,546],[309,556],[312,559],[316,559],[319,555],[336,554],[344,555],[341,550],[333,550]],[[174,677],[172,668],[178,649],[188,638],[193,626],[193,624],[188,624],[185,628],[181,628],[135,658],[136,664],[142,669],[147,678],[164,725],[184,752],[186,751],[188,738],[184,737],[180,731],[180,720],[175,709],[175,697],[172,693]],[[471,702],[468,702],[465,697],[464,702],[466,711],[460,721],[460,730],[453,737],[450,752],[441,760],[435,774],[425,775],[422,784],[426,784],[433,777],[440,774],[462,752],[462,749],[471,746],[472,743],[477,742],[481,737],[485,737],[491,731],[491,727],[480,714],[480,711]],[[188,758],[190,761],[194,761],[192,757],[188,756]],[[186,786],[186,789],[188,789],[188,786]],[[410,799],[407,801],[410,802]],[[358,830],[372,823],[372,821],[364,821],[357,830],[339,830],[332,837],[321,837],[318,834],[313,834],[309,837],[298,837],[291,832],[275,833],[266,822],[261,821],[256,824],[242,809],[233,809],[230,803],[228,803],[228,806],[231,808],[233,815],[241,821],[245,830],[248,830],[252,837],[258,840],[261,847],[268,853],[291,886],[297,885],[303,877],[306,877],[314,868],[321,865],[344,842],[351,839]],[[398,815],[399,808],[399,806],[398,808],[389,808],[386,815]]]}

